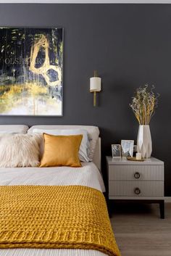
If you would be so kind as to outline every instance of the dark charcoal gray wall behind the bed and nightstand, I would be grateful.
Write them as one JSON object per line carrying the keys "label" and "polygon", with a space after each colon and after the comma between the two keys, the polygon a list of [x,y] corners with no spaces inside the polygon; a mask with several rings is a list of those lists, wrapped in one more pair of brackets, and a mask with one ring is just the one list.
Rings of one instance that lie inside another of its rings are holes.
{"label": "dark charcoal gray wall behind the bed and nightstand", "polygon": [[[171,195],[171,5],[0,4],[1,26],[64,28],[64,116],[0,117],[1,124],[98,125],[103,155],[120,139],[136,139],[128,106],[135,88],[154,83],[161,94],[151,120],[153,155],[165,162]],[[88,92],[93,70],[103,91],[99,107]]]}

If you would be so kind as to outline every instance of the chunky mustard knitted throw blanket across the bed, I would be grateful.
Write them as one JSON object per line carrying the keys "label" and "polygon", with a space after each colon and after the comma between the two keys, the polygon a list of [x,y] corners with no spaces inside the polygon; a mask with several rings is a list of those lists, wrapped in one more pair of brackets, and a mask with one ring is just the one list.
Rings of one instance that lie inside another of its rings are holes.
{"label": "chunky mustard knitted throw blanket across the bed", "polygon": [[104,196],[86,186],[0,186],[0,248],[120,255]]}

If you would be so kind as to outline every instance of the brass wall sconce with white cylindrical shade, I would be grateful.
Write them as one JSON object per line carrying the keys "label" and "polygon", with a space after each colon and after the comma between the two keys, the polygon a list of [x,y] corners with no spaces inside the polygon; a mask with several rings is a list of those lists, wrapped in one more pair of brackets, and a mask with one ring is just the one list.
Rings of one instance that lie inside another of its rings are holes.
{"label": "brass wall sconce with white cylindrical shade", "polygon": [[96,92],[101,91],[101,78],[98,78],[97,71],[94,70],[93,78],[90,78],[90,92],[93,92],[93,107],[96,107]]}

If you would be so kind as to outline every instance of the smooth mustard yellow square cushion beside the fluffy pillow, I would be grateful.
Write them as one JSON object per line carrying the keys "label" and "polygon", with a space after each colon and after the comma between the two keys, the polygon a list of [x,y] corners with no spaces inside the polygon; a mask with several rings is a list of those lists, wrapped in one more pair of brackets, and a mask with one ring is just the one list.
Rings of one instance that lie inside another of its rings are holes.
{"label": "smooth mustard yellow square cushion beside the fluffy pillow", "polygon": [[54,136],[43,133],[44,152],[40,167],[80,167],[78,151],[83,135]]}

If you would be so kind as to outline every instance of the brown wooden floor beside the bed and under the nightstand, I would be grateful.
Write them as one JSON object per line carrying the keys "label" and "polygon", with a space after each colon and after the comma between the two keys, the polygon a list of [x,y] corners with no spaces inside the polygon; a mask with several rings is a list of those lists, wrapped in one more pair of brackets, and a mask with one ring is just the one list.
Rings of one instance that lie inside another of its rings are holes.
{"label": "brown wooden floor beside the bed and under the nightstand", "polygon": [[171,203],[164,220],[159,205],[117,203],[111,223],[122,256],[171,256]]}

